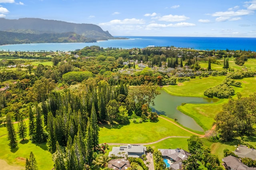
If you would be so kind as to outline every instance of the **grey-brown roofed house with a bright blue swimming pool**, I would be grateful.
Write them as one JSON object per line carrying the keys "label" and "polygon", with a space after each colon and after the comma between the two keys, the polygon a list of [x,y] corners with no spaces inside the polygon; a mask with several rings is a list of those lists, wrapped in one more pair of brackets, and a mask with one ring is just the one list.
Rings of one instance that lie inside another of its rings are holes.
{"label": "grey-brown roofed house with a bright blue swimming pool", "polygon": [[186,160],[190,156],[190,152],[183,149],[158,149],[162,153],[162,157],[170,164],[168,167],[171,170],[181,170],[182,160]]}

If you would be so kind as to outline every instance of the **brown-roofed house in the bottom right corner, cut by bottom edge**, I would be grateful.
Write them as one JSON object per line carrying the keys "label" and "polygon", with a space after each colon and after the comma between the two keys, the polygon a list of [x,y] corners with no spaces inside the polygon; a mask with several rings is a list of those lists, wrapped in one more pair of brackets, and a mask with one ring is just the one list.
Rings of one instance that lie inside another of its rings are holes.
{"label": "brown-roofed house in the bottom right corner, cut by bottom edge", "polygon": [[256,168],[244,165],[238,158],[232,155],[222,158],[222,162],[227,170],[256,170]]}

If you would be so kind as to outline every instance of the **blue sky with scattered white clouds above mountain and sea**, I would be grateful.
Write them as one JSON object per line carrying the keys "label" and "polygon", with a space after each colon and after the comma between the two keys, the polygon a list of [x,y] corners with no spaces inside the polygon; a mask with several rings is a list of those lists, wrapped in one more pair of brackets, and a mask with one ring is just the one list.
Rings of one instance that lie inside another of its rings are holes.
{"label": "blue sky with scattered white clouds above mountain and sea", "polygon": [[256,0],[0,0],[0,18],[92,23],[113,36],[256,37],[255,13]]}

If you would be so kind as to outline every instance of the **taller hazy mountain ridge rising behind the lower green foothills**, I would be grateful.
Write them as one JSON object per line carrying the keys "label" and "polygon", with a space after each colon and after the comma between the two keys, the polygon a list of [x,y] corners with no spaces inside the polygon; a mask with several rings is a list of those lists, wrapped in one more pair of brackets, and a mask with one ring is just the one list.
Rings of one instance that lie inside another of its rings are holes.
{"label": "taller hazy mountain ridge rising behind the lower green foothills", "polygon": [[[9,20],[5,18],[0,18],[0,31],[12,32],[12,33],[30,33],[30,34],[38,34],[44,37],[44,33],[48,33],[51,36],[59,36],[57,34],[64,35],[63,33],[73,32],[77,35],[81,35],[86,37],[86,39],[91,39],[89,42],[95,42],[94,40],[108,40],[108,39],[120,39],[113,37],[108,31],[103,31],[102,28],[98,25],[88,24],[88,23],[69,23],[65,21],[56,21],[56,20],[44,20],[40,18],[20,18],[18,20]],[[6,33],[1,33],[2,34]],[[56,34],[56,35],[54,35]],[[19,37],[23,37],[24,35],[19,35]],[[32,35],[36,37],[36,35]],[[9,37],[11,39],[11,37]],[[46,38],[45,38],[46,39]],[[47,42],[52,39],[46,39]],[[53,38],[56,42],[56,38]],[[68,39],[68,37],[67,37]],[[1,44],[6,44],[4,42],[9,42],[10,40],[2,40]],[[13,39],[13,42],[16,41],[26,41],[26,39]],[[40,41],[40,40],[38,40]],[[62,40],[64,41],[64,40]],[[58,41],[59,43],[62,41]],[[67,40],[68,42],[71,41]],[[83,42],[84,40],[77,41]],[[33,40],[34,42],[34,40]],[[44,42],[44,41],[41,41]],[[72,41],[71,41],[72,42]],[[46,42],[44,42],[46,43]]]}

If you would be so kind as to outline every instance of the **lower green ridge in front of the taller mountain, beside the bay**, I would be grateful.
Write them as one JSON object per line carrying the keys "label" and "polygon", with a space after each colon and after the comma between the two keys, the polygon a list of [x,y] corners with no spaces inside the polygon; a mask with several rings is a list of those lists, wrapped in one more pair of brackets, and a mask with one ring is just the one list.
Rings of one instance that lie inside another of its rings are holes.
{"label": "lower green ridge in front of the taller mountain, beside the bay", "polygon": [[67,33],[13,33],[0,31],[0,45],[23,43],[92,43],[96,39],[87,38],[74,32]]}

